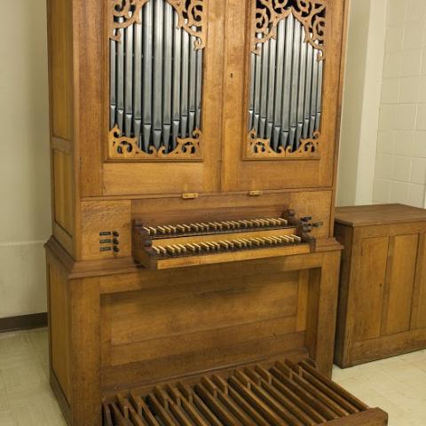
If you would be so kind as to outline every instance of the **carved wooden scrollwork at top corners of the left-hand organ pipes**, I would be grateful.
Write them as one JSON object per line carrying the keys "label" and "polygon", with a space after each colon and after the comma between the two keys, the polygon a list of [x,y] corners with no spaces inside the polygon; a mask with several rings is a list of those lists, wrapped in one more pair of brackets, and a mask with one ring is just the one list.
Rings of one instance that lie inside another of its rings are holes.
{"label": "carved wooden scrollwork at top corners of the left-hand organ pipes", "polygon": [[[112,0],[113,23],[110,38],[121,42],[119,28],[127,28],[132,24],[141,24],[140,10],[149,0]],[[177,28],[183,28],[195,37],[194,49],[206,46],[205,1],[204,0],[166,0],[177,12]],[[119,19],[122,18],[122,22]]]}

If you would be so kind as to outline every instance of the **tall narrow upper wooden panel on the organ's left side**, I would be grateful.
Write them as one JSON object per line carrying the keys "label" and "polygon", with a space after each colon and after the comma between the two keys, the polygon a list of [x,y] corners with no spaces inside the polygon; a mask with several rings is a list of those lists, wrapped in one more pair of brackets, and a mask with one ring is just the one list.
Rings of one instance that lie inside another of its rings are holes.
{"label": "tall narrow upper wooden panel on the organ's left side", "polygon": [[51,92],[51,135],[72,138],[73,59],[71,2],[49,0],[49,71]]}

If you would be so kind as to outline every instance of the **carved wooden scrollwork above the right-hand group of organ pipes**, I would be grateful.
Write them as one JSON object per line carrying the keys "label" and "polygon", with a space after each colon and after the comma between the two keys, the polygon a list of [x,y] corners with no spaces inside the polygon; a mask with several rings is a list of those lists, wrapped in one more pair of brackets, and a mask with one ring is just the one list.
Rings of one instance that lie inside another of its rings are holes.
{"label": "carved wooden scrollwork above the right-hand group of organ pipes", "polygon": [[305,42],[319,51],[318,60],[324,59],[325,11],[325,0],[257,0],[252,18],[251,51],[260,54],[259,44],[276,38],[280,20],[293,13],[304,26]]}

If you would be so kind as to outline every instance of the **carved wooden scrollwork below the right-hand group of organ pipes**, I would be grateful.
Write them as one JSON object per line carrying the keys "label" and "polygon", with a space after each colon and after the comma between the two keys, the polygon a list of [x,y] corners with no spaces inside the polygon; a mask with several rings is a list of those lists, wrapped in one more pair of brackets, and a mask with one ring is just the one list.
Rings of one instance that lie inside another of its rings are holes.
{"label": "carved wooden scrollwork below the right-hand group of organ pipes", "polygon": [[293,159],[293,158],[319,158],[319,131],[313,133],[313,138],[301,139],[300,146],[292,150],[290,146],[284,148],[280,146],[277,150],[271,147],[270,139],[256,137],[256,130],[248,133],[247,158],[250,160],[273,160],[273,159]]}

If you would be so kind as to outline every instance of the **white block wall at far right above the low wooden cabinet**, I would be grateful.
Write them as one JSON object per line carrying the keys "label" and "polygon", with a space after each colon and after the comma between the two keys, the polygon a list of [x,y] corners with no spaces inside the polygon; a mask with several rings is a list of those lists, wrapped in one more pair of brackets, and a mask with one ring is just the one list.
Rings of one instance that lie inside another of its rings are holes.
{"label": "white block wall at far right above the low wooden cabinet", "polygon": [[426,0],[388,0],[375,202],[423,207],[426,189]]}

